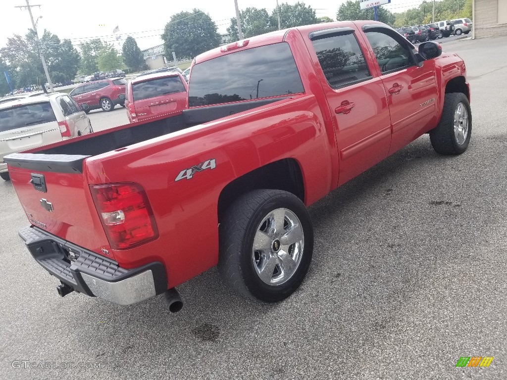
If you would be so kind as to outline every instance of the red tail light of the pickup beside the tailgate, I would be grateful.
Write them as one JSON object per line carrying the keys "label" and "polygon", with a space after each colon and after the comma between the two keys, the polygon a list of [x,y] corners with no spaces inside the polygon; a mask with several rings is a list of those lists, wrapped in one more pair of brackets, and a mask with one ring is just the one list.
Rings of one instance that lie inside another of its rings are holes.
{"label": "red tail light of the pickup beside the tailgate", "polygon": [[155,217],[137,183],[90,185],[93,201],[113,249],[128,249],[158,238]]}

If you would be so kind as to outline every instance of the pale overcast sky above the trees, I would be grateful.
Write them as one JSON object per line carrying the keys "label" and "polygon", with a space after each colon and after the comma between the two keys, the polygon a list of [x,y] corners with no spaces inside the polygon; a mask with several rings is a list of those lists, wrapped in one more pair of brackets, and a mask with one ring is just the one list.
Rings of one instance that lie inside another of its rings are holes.
{"label": "pale overcast sky above the trees", "polygon": [[[317,17],[328,16],[336,20],[336,12],[346,0],[308,0],[304,3],[316,11]],[[296,4],[298,0],[278,0],[279,4]],[[407,8],[418,6],[422,0],[391,0],[386,6],[391,12],[402,12]],[[98,0],[30,0],[30,5],[41,5],[32,8],[33,18],[39,16],[38,30],[48,29],[58,35],[60,40],[70,39],[75,46],[81,41],[100,37],[106,42],[115,42],[113,29],[118,25],[123,39],[131,35],[139,48],[148,49],[162,44],[162,34],[170,17],[178,12],[192,11],[198,8],[209,14],[219,27],[219,32],[226,32],[231,17],[235,17],[234,0],[189,0],[189,1],[98,1]],[[7,43],[7,37],[13,34],[24,36],[31,28],[28,11],[15,6],[26,5],[25,0],[0,0],[0,47]],[[266,8],[269,14],[276,8],[276,0],[238,0],[238,7]],[[117,33],[118,35],[118,33]]]}

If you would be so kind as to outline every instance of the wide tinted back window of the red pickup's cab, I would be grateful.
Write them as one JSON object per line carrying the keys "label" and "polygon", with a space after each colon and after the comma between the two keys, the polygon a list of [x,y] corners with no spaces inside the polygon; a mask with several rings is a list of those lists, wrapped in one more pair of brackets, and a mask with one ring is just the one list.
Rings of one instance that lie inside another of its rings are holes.
{"label": "wide tinted back window of the red pickup's cab", "polygon": [[[248,67],[245,70],[245,67]],[[189,106],[262,99],[304,92],[287,43],[260,46],[196,64]]]}

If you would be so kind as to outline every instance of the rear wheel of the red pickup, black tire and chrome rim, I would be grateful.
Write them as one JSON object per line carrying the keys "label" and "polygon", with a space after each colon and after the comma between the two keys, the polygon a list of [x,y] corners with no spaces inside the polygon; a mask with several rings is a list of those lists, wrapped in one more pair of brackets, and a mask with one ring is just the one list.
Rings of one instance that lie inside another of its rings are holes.
{"label": "rear wheel of the red pickup, black tire and chrome rim", "polygon": [[[274,211],[278,211],[279,218],[279,212],[283,213],[283,228],[278,233]],[[289,237],[285,225],[292,225],[291,231],[296,232],[289,239],[302,240],[283,242],[283,237]],[[262,245],[266,249],[253,249],[256,236],[264,238]],[[219,239],[218,268],[224,281],[240,295],[264,302],[281,301],[291,295],[303,282],[313,253],[313,226],[305,205],[294,194],[280,190],[255,190],[236,199],[222,217]],[[261,278],[261,266],[268,268],[265,280]],[[288,274],[283,279],[285,271]]]}

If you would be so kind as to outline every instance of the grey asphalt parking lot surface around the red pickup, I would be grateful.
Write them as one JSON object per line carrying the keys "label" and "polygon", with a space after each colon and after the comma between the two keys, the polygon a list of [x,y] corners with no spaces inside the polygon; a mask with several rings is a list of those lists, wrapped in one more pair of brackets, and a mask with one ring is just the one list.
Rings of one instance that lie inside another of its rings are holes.
{"label": "grey asphalt parking lot surface around the red pickup", "polygon": [[[60,298],[18,238],[28,222],[1,181],[0,378],[506,379],[505,46],[444,45],[472,87],[468,150],[442,157],[422,136],[313,205],[310,271],[276,305],[233,294],[214,269],[178,287],[177,314],[163,297]],[[89,116],[100,130],[125,109]],[[456,368],[462,356],[494,359]]]}

